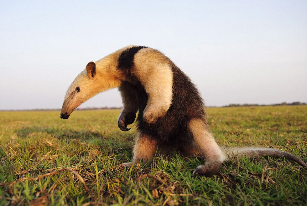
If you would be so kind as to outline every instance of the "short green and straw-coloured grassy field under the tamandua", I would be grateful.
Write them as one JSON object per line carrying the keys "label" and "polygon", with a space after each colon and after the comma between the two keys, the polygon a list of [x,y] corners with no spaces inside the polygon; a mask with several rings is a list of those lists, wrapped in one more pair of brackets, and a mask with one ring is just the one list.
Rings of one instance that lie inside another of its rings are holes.
{"label": "short green and straw-coloured grassy field under the tamandua", "polygon": [[[307,106],[207,111],[220,145],[272,147],[307,162]],[[0,112],[0,205],[307,204],[307,171],[284,158],[242,157],[211,178],[191,174],[203,160],[177,153],[122,169],[136,128],[120,131],[119,112],[75,111],[68,120],[60,111]],[[61,167],[77,172],[87,191],[74,173],[53,173]]]}

